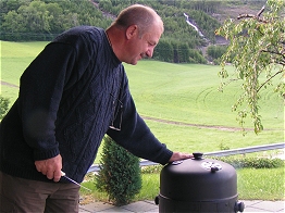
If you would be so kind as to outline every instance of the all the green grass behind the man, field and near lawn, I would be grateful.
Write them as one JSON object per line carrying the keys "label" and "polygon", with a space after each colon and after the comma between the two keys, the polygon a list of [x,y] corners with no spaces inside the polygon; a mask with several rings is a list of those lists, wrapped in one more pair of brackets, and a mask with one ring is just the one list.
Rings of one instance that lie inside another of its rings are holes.
{"label": "all the green grass behind the man, field and near lawn", "polygon": [[[21,74],[46,43],[1,41],[1,80],[18,86]],[[219,92],[220,68],[151,60],[141,61],[136,66],[125,64],[129,88],[140,115],[187,124],[146,120],[154,135],[172,150],[210,152],[219,151],[221,145],[235,149],[284,141],[283,100],[269,90],[262,91],[260,102],[264,130],[259,135],[248,130],[243,136],[238,130],[236,113],[231,110],[239,96],[240,83],[235,82],[224,92]],[[228,70],[233,71],[233,67]],[[11,104],[17,92],[17,87],[1,85],[1,96],[10,98]],[[252,128],[250,120],[246,127]],[[270,151],[270,154],[272,152],[277,151]],[[100,151],[96,163],[99,159]],[[239,170],[237,174],[240,199],[284,199],[284,168]],[[153,199],[159,192],[159,174],[144,175],[142,178],[142,189],[136,199]],[[90,181],[84,185],[94,189]],[[103,193],[92,193],[98,199],[101,196],[106,199]]]}

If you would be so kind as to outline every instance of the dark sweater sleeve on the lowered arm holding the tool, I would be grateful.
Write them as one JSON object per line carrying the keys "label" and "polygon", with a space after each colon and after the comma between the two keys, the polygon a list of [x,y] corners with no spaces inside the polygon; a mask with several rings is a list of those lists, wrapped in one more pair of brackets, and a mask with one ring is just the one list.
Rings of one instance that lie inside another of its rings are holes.
{"label": "dark sweater sleeve on the lowered arm holding the tool", "polygon": [[25,141],[34,150],[34,160],[46,160],[60,153],[55,139],[57,113],[64,87],[74,75],[78,60],[72,46],[52,42],[21,77],[18,113]]}

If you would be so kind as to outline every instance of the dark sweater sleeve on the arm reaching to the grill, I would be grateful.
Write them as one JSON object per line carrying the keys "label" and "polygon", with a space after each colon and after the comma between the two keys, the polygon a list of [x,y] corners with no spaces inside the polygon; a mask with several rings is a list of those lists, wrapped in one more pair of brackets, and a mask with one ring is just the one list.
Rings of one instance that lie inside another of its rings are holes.
{"label": "dark sweater sleeve on the arm reaching to the grill", "polygon": [[124,105],[121,130],[109,129],[108,135],[133,154],[163,165],[166,164],[173,152],[154,137],[139,116],[127,86],[122,102]]}

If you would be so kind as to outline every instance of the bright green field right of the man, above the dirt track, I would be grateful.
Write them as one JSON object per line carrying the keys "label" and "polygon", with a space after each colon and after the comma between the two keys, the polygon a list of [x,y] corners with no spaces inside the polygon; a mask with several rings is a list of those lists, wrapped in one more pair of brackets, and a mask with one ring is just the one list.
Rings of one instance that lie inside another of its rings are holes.
{"label": "bright green field right of the man, above the dirt track", "polygon": [[[126,65],[131,91],[142,115],[193,124],[237,126],[232,104],[240,95],[240,82],[218,91],[220,66],[141,61]],[[233,67],[228,66],[230,71]],[[282,99],[261,92],[262,117],[268,128],[283,128]],[[250,123],[250,122],[249,122]],[[249,127],[251,124],[248,125]]]}

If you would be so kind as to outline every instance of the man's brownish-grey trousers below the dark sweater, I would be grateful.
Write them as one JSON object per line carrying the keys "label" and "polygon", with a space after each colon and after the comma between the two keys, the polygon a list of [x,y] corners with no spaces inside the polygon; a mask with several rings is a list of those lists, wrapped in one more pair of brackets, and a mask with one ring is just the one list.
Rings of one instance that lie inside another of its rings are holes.
{"label": "man's brownish-grey trousers below the dark sweater", "polygon": [[0,172],[0,212],[78,212],[79,187],[75,184],[44,183]]}

